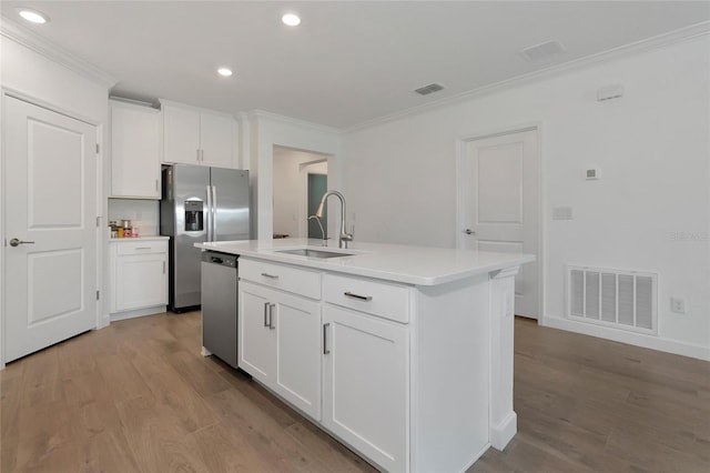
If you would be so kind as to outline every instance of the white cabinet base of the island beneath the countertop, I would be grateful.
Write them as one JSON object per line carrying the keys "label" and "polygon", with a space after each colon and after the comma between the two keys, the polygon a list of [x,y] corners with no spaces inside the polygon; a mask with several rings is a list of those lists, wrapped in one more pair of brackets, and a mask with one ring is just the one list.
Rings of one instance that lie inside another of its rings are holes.
{"label": "white cabinet base of the island beneath the countertop", "polygon": [[240,368],[378,469],[466,471],[515,433],[507,414],[489,433],[490,301],[513,275],[504,292],[488,274],[427,288],[246,258],[240,274]]}

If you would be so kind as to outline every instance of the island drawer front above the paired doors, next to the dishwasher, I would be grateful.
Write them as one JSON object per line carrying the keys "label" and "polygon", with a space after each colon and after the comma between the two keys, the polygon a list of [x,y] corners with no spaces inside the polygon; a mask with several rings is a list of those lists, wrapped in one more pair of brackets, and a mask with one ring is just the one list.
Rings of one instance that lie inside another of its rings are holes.
{"label": "island drawer front above the paired doors, next to the dishwasher", "polygon": [[321,273],[258,260],[239,260],[240,279],[293,292],[304,298],[321,299]]}

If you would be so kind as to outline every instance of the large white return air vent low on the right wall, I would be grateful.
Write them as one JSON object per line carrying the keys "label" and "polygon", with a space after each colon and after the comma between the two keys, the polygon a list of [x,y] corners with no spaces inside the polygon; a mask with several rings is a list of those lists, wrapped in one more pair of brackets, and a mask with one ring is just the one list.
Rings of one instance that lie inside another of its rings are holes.
{"label": "large white return air vent low on the right wall", "polygon": [[579,322],[656,335],[658,274],[567,266],[567,316]]}

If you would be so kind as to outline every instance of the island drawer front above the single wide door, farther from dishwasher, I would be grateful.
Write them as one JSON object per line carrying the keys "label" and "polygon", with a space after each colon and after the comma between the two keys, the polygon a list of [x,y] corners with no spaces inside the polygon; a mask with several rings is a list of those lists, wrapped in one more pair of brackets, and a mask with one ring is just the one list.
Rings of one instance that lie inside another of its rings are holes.
{"label": "island drawer front above the single wide door, farther from dishwasher", "polygon": [[325,274],[323,291],[326,302],[367,312],[396,322],[409,322],[410,290],[363,278]]}

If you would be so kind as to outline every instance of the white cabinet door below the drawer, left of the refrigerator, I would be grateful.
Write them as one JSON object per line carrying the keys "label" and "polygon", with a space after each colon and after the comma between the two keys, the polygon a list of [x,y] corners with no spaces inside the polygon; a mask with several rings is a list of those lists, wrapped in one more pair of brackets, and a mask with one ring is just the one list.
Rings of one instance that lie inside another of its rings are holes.
{"label": "white cabinet door below the drawer, left of the refrigerator", "polygon": [[115,312],[168,304],[168,254],[115,256]]}

